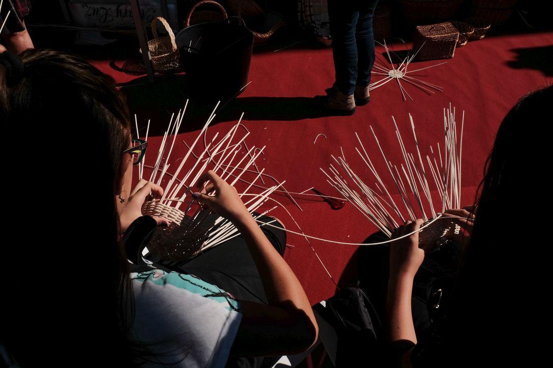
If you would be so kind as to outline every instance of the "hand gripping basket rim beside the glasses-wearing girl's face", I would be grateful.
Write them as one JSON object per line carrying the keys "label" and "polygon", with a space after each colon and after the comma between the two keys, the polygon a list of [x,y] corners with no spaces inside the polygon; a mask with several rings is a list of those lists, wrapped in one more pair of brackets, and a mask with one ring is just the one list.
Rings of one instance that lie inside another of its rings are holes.
{"label": "hand gripping basket rim beside the glasses-wearing girl's face", "polygon": [[[119,210],[119,222],[121,223],[121,232],[126,232],[133,221],[142,216],[142,205],[150,197],[161,198],[163,189],[153,182],[140,180],[131,192],[131,196],[124,202],[124,206]],[[159,226],[168,226],[169,221],[163,217],[154,217]]]}

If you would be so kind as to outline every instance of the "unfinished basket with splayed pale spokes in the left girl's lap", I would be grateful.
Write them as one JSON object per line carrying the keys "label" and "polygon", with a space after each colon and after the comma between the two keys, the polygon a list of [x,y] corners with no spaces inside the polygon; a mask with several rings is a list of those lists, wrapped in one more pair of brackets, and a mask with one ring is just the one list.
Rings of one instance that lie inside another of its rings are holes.
{"label": "unfinished basket with splayed pale spokes in the left girl's lap", "polygon": [[[277,183],[268,188],[262,187],[264,190],[260,193],[251,192],[252,189],[260,187],[255,185],[255,182],[260,179],[264,169],[258,170],[254,163],[263,153],[265,146],[262,148],[251,146],[245,150],[245,153],[241,153],[242,147],[246,146],[244,140],[249,135],[249,132],[242,135],[237,134],[238,128],[242,125],[242,117],[221,139],[217,140],[219,134],[216,133],[210,141],[207,141],[207,127],[215,118],[217,107],[218,104],[194,142],[188,146],[183,141],[183,145],[187,148],[186,153],[182,159],[179,159],[179,166],[173,173],[168,172],[170,167],[168,162],[175,148],[186,105],[176,117],[174,114],[171,116],[169,126],[161,138],[154,165],[145,165],[145,156],[139,164],[138,176],[140,178],[144,177],[144,168],[146,167],[151,169],[149,180],[164,186],[164,194],[161,198],[145,202],[142,207],[143,214],[160,216],[171,221],[168,227],[156,229],[148,244],[148,251],[161,256],[164,260],[188,260],[206,249],[239,235],[238,230],[229,220],[213,213],[192,197],[192,193],[196,191],[193,187],[205,171],[212,170],[230,185],[235,185],[245,173],[251,172],[249,170],[251,167],[255,167],[257,170],[255,177],[246,190],[240,194],[240,197],[248,196],[248,200],[244,201],[244,204],[252,215],[267,202],[270,194],[278,190],[284,183]],[[135,124],[138,134],[136,120]],[[148,133],[149,122],[144,136],[145,140],[148,139]],[[205,148],[199,155],[196,155],[194,149],[197,148],[196,146],[202,138]],[[164,185],[165,182],[166,185]],[[202,187],[205,188],[207,184],[208,182],[203,183]],[[181,208],[183,203],[186,204],[185,208]],[[263,214],[272,209],[274,208]],[[254,215],[254,218],[258,217],[259,214]]]}

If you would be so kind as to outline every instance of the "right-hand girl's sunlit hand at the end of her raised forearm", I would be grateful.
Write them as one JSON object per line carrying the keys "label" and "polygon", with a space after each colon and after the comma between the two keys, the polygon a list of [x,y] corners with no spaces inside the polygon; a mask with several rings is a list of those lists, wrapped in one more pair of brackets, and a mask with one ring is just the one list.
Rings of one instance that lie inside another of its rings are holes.
{"label": "right-hand girl's sunlit hand at the end of her raised forearm", "polygon": [[[392,239],[418,230],[424,223],[422,219],[408,221],[392,234]],[[390,243],[390,276],[415,277],[424,260],[424,250],[419,248],[419,232]]]}

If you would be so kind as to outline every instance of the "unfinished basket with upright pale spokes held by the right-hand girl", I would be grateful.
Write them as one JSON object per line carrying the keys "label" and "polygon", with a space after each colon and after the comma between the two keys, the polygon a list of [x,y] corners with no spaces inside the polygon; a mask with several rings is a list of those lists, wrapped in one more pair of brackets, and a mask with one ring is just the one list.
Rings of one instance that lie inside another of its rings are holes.
{"label": "unfinished basket with upright pale spokes held by the right-hand girl", "polygon": [[[367,165],[368,171],[375,178],[373,188],[356,174],[344,158],[343,151],[341,156],[332,156],[337,167],[341,170],[338,170],[333,164],[330,165],[328,173],[321,168],[321,171],[327,177],[328,183],[335,187],[364,217],[389,237],[392,236],[394,229],[406,220],[414,221],[417,218],[422,218],[426,224],[432,218],[440,216],[435,209],[431,183],[434,184],[434,190],[439,195],[442,213],[447,209],[461,207],[462,135],[465,113],[463,112],[459,128],[455,121],[455,108],[452,109],[450,105],[449,108],[444,109],[444,154],[442,155],[442,149],[438,143],[438,157],[436,157],[434,148],[430,146],[430,155],[426,155],[426,160],[423,160],[420,151],[413,117],[409,114],[415,154],[406,148],[398,125],[393,117],[392,119],[401,156],[403,156],[403,162],[399,164],[399,167],[387,159],[373,127],[370,128],[384,160],[387,169],[385,171],[392,178],[394,190],[389,189],[384,183],[357,133],[355,134],[359,147],[356,147],[356,151],[364,164]],[[342,175],[341,172],[345,175]],[[394,201],[394,194],[395,196],[399,194],[400,202]],[[460,227],[447,219],[434,222],[420,231],[419,242],[427,244],[436,241],[448,232],[458,233]]]}

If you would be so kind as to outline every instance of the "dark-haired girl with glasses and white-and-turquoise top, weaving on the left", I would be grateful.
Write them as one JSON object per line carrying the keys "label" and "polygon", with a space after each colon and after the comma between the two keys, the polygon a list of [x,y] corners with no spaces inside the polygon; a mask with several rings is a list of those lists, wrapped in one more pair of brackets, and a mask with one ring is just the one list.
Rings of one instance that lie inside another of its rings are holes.
{"label": "dark-haired girl with glasses and white-and-turquoise top, weaving on the left", "polygon": [[231,348],[233,356],[263,356],[314,344],[317,325],[300,283],[213,172],[204,179],[215,196],[197,197],[241,230],[268,303],[236,300],[188,274],[130,272],[121,236],[166,220],[140,213],[160,187],[140,182],[131,190],[145,146],[131,139],[111,78],[61,52],[4,52],[0,122],[3,170],[13,183],[3,198],[13,219],[4,231],[14,239],[1,256],[4,363],[224,366]]}

